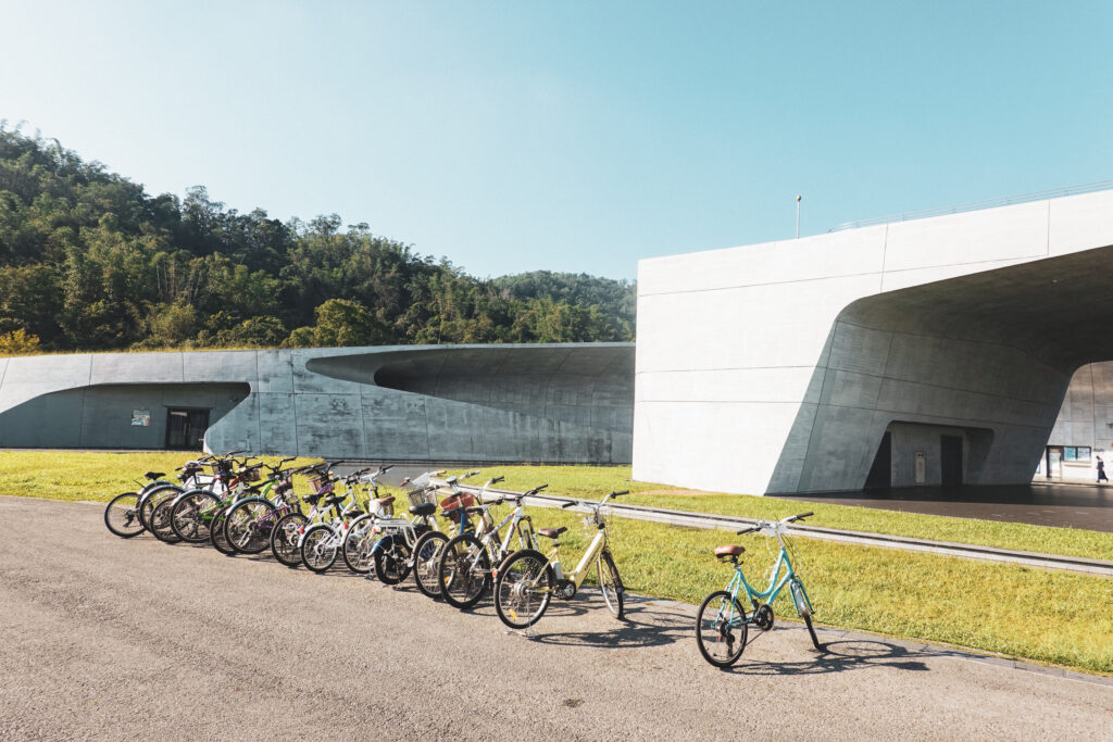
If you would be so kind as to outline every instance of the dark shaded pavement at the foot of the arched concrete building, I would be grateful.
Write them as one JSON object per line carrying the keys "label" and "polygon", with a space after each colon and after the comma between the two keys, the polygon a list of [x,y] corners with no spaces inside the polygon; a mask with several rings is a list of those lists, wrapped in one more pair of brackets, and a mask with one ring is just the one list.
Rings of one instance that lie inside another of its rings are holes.
{"label": "dark shaded pavement at the foot of the arched concrete building", "polygon": [[1032,523],[1113,533],[1113,487],[1032,484],[985,487],[895,487],[785,496],[812,503],[858,505],[886,511]]}

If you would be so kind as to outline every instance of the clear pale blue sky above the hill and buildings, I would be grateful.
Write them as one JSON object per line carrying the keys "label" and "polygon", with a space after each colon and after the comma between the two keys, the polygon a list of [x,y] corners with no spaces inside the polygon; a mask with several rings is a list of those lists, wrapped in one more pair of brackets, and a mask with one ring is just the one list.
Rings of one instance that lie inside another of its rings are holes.
{"label": "clear pale blue sky above the hill and buildings", "polygon": [[1113,178],[1110,2],[0,0],[0,118],[479,276]]}

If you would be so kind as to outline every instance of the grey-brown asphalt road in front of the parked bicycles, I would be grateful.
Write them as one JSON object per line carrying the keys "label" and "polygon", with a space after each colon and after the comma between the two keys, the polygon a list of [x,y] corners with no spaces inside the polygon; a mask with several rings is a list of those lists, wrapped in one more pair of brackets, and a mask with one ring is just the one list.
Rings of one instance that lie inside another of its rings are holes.
{"label": "grey-brown asphalt road in front of the parked bicycles", "polygon": [[[0,738],[1109,739],[1113,685],[797,624],[730,672],[690,606],[598,595],[532,639],[490,603],[125,541],[102,506],[0,497]],[[621,567],[621,565],[619,565]]]}

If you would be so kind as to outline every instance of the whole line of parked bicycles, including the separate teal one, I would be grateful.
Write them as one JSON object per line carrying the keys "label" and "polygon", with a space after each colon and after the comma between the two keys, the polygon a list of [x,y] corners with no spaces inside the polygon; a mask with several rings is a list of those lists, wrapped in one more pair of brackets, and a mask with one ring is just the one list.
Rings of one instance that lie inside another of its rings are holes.
{"label": "whole line of parked bicycles, including the separate teal one", "polygon": [[[368,467],[337,475],[341,462],[322,462],[299,468],[277,464],[242,452],[207,455],[178,467],[178,482],[162,472],[147,472],[137,492],[117,495],[105,509],[105,524],[114,534],[130,538],[144,533],[167,543],[209,543],[221,553],[259,554],[269,548],[286,566],[304,565],[326,572],[343,558],[348,570],[397,585],[413,575],[417,588],[432,598],[466,610],[494,593],[499,617],[511,629],[529,629],[544,615],[553,597],[573,597],[584,580],[594,574],[603,601],[615,619],[622,619],[623,586],[607,541],[607,503],[626,492],[611,492],[600,502],[569,499],[563,507],[587,512],[584,523],[595,534],[574,568],[561,561],[560,536],[567,528],[533,528],[523,499],[548,485],[524,493],[493,492],[490,479],[482,487],[462,487],[461,476],[443,477],[427,472],[403,479],[407,512],[395,514],[395,497],[380,497],[380,478],[392,466]],[[210,473],[206,473],[206,468]],[[293,477],[308,478],[311,494],[294,493]],[[437,501],[440,499],[440,503]],[[510,504],[498,523],[493,508]],[[440,518],[437,511],[440,509]],[[769,588],[756,591],[739,565],[745,551],[738,545],[716,548],[716,556],[735,565],[725,591],[703,601],[697,617],[700,653],[715,665],[728,666],[747,644],[747,627],[772,627],[770,604],[789,585],[797,612],[805,619],[816,647],[811,604],[786,551],[787,524],[811,515],[759,522],[752,528],[776,537],[781,545]],[[548,554],[538,537],[551,541]],[[786,574],[778,580],[785,567]],[[748,614],[739,592],[752,603]]]}

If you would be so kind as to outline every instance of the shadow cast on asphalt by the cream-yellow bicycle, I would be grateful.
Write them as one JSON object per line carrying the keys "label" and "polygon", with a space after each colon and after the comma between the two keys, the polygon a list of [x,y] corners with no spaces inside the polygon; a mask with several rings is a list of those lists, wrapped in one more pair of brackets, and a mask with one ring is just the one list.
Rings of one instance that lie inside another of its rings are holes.
{"label": "shadow cast on asphalt by the cream-yellow bicycle", "polygon": [[550,617],[582,614],[599,611],[610,616],[602,600],[591,600],[590,603],[574,606],[554,603],[542,619],[541,629],[534,626],[532,635],[520,632],[522,636],[539,644],[556,646],[583,646],[589,649],[612,647],[632,649],[644,646],[663,646],[687,639],[692,633],[691,620],[677,615],[673,611],[659,606],[632,602],[623,610],[622,621],[610,621],[605,629],[599,631],[560,631],[544,632],[544,622]]}

